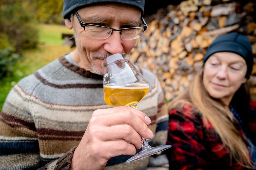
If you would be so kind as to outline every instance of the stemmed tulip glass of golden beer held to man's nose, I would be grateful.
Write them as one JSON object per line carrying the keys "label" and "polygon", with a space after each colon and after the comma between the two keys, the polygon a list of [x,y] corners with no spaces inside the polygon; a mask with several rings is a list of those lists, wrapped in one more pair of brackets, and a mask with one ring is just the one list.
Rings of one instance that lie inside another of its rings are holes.
{"label": "stemmed tulip glass of golden beer held to man's nose", "polygon": [[[130,62],[129,56],[124,53],[113,54],[102,62],[102,68],[104,70],[105,102],[114,107],[129,106],[137,109],[138,102],[149,90],[149,84]],[[141,137],[141,140],[142,150],[128,159],[127,163],[146,158],[171,147],[171,145],[151,147],[146,139]]]}

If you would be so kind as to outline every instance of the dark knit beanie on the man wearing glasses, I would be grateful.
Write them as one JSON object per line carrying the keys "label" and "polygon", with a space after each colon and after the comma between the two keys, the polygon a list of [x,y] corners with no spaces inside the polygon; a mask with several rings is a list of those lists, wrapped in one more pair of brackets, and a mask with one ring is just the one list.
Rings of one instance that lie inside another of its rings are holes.
{"label": "dark knit beanie on the man wearing glasses", "polygon": [[69,18],[70,14],[75,10],[86,7],[87,5],[93,5],[97,3],[121,3],[124,5],[131,5],[139,8],[142,14],[144,13],[145,0],[63,0],[63,18]]}

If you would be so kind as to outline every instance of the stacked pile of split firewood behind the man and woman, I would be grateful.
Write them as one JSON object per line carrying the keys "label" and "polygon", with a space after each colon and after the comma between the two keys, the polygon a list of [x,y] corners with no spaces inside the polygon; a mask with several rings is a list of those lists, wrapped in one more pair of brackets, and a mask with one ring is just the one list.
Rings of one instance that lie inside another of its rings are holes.
{"label": "stacked pile of split firewood behind the man and woman", "polygon": [[[256,57],[256,2],[231,0],[187,0],[168,5],[151,16],[130,53],[139,67],[157,75],[167,101],[189,87],[202,68],[203,56],[211,42],[221,34],[246,35]],[[256,96],[256,58],[251,93]]]}

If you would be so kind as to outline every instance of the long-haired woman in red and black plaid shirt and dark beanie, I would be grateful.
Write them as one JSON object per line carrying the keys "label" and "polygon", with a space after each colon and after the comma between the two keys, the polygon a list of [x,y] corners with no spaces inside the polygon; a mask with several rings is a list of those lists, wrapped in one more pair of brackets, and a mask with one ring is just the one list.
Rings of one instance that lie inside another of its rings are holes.
{"label": "long-haired woman in red and black plaid shirt and dark beanie", "polygon": [[170,169],[254,169],[256,112],[249,40],[218,36],[191,86],[169,104]]}

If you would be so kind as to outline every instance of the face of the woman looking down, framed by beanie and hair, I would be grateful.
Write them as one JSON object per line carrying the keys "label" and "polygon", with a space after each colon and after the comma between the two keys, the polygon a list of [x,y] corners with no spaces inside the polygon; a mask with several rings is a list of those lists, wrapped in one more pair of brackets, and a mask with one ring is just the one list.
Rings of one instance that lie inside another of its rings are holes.
{"label": "face of the woman looking down, framed by beanie and hair", "polygon": [[205,62],[203,85],[209,95],[229,105],[235,92],[245,83],[247,65],[238,54],[218,52]]}

